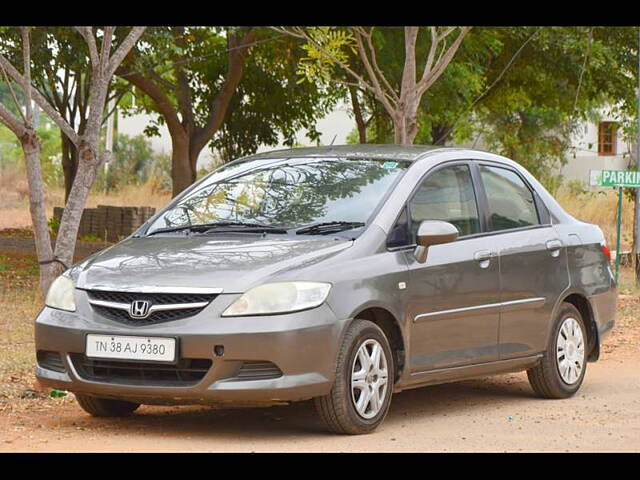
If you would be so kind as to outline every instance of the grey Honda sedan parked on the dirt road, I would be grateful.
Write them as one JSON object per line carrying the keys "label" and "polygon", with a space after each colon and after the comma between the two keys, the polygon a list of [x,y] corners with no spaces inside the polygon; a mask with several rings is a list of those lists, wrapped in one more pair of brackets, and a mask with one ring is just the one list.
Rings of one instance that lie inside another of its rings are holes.
{"label": "grey Honda sedan parked on the dirt road", "polygon": [[313,399],[367,433],[393,393],[526,370],[583,382],[613,328],[602,231],[517,163],[394,145],[224,165],[53,283],[36,375],[92,415]]}

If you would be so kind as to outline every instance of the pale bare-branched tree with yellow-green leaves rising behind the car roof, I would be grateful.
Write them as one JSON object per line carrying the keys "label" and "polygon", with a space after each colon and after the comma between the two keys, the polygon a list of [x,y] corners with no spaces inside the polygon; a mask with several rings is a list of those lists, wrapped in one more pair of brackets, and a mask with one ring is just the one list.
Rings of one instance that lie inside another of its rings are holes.
{"label": "pale bare-branched tree with yellow-green leaves rising behind the car roof", "polygon": [[[471,27],[428,27],[430,38],[424,54],[418,54],[419,27],[404,27],[404,58],[400,81],[388,78],[378,62],[385,45],[375,27],[334,29],[277,28],[277,31],[303,39],[308,57],[301,72],[309,81],[318,77],[355,86],[371,93],[384,108],[393,123],[394,142],[412,144],[418,133],[418,109],[424,94],[445,72],[462,40]],[[454,32],[455,35],[454,35]],[[449,41],[451,39],[451,41]],[[361,62],[364,73],[358,73],[349,63],[350,52]],[[344,82],[334,74],[340,68],[351,82]],[[420,74],[420,71],[422,72]],[[419,75],[419,78],[418,78]]]}

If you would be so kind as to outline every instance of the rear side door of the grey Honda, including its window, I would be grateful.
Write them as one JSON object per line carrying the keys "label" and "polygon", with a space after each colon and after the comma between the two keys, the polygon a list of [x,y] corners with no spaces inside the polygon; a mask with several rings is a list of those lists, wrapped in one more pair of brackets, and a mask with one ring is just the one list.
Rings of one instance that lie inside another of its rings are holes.
{"label": "rear side door of the grey Honda, including its window", "polygon": [[500,359],[539,353],[556,300],[569,285],[566,245],[515,169],[479,163],[478,170],[500,261]]}

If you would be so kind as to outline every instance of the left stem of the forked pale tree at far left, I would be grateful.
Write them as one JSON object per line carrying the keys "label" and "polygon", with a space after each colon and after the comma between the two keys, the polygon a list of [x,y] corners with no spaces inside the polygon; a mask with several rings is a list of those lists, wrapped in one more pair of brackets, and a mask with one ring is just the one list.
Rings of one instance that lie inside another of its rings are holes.
{"label": "left stem of the forked pale tree at far left", "polygon": [[33,222],[33,236],[36,244],[36,256],[40,266],[40,290],[43,296],[49,291],[51,282],[59,275],[60,269],[56,263],[51,263],[53,250],[51,237],[47,225],[47,215],[44,203],[44,188],[42,185],[42,172],[40,168],[40,141],[33,130],[27,132],[20,139],[27,170],[27,182],[29,184],[29,210]]}

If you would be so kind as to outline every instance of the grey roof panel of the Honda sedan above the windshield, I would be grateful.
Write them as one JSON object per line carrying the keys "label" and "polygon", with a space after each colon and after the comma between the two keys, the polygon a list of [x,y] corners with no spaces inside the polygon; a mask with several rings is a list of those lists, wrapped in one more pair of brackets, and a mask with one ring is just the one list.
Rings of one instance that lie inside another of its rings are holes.
{"label": "grey roof panel of the Honda sedan above the windshield", "polygon": [[242,160],[260,160],[291,157],[366,157],[380,160],[414,161],[427,153],[435,151],[464,150],[461,148],[441,147],[439,145],[329,145],[323,147],[302,147],[272,150],[244,157]]}

